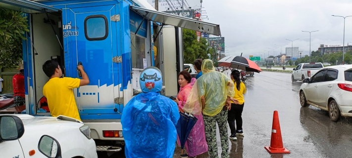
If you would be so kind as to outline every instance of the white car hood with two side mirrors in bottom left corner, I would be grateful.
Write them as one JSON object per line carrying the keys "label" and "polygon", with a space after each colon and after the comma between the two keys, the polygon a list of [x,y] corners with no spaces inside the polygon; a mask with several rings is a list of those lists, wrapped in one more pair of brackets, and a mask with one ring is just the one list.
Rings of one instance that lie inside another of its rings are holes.
{"label": "white car hood with two side mirrors in bottom left corner", "polygon": [[98,158],[90,131],[64,116],[0,115],[0,157]]}

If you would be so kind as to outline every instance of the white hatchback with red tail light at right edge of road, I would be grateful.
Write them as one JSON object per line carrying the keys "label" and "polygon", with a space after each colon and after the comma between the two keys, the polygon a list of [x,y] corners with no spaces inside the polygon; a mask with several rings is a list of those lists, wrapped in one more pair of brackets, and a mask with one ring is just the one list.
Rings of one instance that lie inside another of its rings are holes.
{"label": "white hatchback with red tail light at right edge of road", "polygon": [[352,65],[325,67],[300,88],[301,106],[312,105],[329,112],[330,119],[352,117]]}

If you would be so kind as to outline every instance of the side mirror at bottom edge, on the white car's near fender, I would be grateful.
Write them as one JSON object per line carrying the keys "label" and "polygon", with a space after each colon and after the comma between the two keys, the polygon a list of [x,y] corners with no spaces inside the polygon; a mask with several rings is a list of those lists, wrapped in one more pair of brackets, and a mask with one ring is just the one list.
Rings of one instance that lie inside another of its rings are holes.
{"label": "side mirror at bottom edge, on the white car's near fender", "polygon": [[48,158],[61,158],[61,147],[56,139],[43,135],[38,144],[39,151]]}

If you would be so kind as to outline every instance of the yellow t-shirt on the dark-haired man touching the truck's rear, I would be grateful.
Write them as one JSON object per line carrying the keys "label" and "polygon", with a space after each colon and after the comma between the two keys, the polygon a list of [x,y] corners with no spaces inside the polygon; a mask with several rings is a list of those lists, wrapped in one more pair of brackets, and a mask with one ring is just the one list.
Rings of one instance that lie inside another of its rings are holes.
{"label": "yellow t-shirt on the dark-haired man touching the truck's rear", "polygon": [[73,88],[78,88],[81,79],[52,78],[43,87],[43,94],[48,100],[48,106],[52,117],[59,115],[70,118],[79,117]]}

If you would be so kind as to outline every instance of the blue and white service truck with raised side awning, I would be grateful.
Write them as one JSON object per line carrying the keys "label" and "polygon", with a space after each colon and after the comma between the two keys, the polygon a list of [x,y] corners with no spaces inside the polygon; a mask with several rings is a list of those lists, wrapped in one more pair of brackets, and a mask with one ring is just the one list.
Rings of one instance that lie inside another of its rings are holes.
{"label": "blue and white service truck with raised side awning", "polygon": [[144,68],[158,67],[162,95],[177,95],[182,28],[221,36],[219,25],[156,11],[146,0],[0,0],[0,7],[24,12],[30,26],[23,40],[26,113],[50,116],[37,113],[49,80],[45,61],[56,60],[63,77],[71,78],[79,78],[82,62],[90,84],[74,89],[77,107],[97,151],[108,153],[124,145],[120,119],[124,105],[141,92]]}

